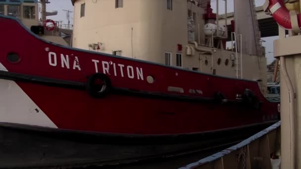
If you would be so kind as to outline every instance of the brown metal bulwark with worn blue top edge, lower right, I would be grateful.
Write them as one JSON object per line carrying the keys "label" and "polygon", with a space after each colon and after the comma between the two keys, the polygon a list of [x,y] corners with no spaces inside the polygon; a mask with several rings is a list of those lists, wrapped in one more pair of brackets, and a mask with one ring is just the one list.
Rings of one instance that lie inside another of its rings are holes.
{"label": "brown metal bulwark with worn blue top edge, lower right", "polygon": [[241,143],[180,169],[272,169],[280,152],[281,122],[268,127]]}

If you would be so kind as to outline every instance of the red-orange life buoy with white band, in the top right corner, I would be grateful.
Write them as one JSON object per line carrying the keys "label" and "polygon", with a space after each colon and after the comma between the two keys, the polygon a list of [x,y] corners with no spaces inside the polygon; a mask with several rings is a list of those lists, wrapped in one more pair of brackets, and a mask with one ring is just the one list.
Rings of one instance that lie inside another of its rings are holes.
{"label": "red-orange life buoy with white band, in the top right corner", "polygon": [[[293,29],[290,11],[285,7],[283,0],[269,0],[268,9],[275,21],[285,29]],[[301,28],[301,14],[297,14],[298,26]]]}

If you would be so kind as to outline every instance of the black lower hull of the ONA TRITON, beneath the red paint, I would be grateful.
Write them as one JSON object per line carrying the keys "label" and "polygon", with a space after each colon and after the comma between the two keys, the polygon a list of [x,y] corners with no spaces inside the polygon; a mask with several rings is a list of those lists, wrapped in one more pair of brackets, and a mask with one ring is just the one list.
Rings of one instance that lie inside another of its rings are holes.
{"label": "black lower hull of the ONA TRITON, beneath the red paint", "polygon": [[[185,134],[185,137],[177,135],[172,136],[173,139],[171,136],[118,138],[114,135],[50,132],[37,130],[37,127],[30,129],[28,126],[0,124],[0,168],[110,166],[175,157],[240,141],[273,123]],[[179,142],[174,140],[176,137],[179,137]]]}

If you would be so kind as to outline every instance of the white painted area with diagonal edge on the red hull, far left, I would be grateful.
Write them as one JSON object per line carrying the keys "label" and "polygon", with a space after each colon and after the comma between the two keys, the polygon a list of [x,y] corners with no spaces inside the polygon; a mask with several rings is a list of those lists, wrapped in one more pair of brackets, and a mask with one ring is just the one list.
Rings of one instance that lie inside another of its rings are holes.
{"label": "white painted area with diagonal edge on the red hull, far left", "polygon": [[[0,63],[0,70],[7,69]],[[0,79],[0,122],[57,128],[14,81]]]}

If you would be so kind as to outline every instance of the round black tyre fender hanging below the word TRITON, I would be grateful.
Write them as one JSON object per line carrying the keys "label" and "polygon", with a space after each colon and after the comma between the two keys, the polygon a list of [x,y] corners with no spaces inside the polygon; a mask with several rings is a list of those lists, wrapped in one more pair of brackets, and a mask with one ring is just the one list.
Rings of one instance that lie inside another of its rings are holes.
{"label": "round black tyre fender hanging below the word TRITON", "polygon": [[96,73],[89,77],[86,87],[90,96],[101,98],[110,92],[112,86],[110,79],[106,75]]}

